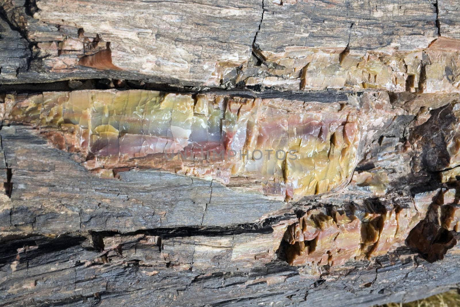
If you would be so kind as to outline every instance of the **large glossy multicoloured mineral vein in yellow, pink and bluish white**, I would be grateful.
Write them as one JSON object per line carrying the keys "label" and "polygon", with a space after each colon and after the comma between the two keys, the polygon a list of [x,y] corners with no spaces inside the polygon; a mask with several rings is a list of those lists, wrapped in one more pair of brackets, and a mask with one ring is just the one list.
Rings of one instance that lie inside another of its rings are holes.
{"label": "large glossy multicoloured mineral vein in yellow, pink and bluish white", "polygon": [[138,167],[246,177],[291,199],[345,185],[357,163],[357,110],[346,104],[84,90],[7,95],[6,105],[10,122],[42,128],[105,176]]}

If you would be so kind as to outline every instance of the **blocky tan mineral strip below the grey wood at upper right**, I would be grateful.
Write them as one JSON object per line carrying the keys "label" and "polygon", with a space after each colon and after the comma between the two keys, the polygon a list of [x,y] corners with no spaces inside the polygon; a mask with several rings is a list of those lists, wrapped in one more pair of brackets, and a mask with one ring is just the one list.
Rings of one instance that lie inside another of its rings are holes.
{"label": "blocky tan mineral strip below the grey wood at upper right", "polygon": [[330,88],[459,93],[460,40],[432,36],[424,44],[420,41],[416,44],[418,48],[413,50],[350,50],[351,44],[341,47],[288,46],[285,50],[268,47],[264,50],[262,45],[259,52],[265,64],[243,65],[236,82],[282,90]]}

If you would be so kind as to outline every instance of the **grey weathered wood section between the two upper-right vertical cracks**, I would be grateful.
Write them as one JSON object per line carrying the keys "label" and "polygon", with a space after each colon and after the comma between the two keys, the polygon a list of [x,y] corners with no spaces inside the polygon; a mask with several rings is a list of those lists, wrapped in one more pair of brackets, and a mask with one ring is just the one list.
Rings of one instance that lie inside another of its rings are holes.
{"label": "grey weathered wood section between the two upper-right vertical cracks", "polygon": [[433,3],[423,0],[267,0],[255,44],[262,53],[303,47],[341,52],[347,46],[351,53],[362,54],[385,48],[417,50],[437,38],[436,18]]}

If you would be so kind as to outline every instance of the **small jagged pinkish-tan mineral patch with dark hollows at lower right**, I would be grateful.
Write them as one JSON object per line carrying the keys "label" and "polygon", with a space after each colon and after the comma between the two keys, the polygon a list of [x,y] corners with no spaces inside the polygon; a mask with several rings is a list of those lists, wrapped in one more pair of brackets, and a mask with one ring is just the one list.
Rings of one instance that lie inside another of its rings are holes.
{"label": "small jagged pinkish-tan mineral patch with dark hollows at lower right", "polygon": [[312,210],[288,227],[285,256],[291,265],[339,266],[352,259],[386,254],[404,243],[413,221],[414,208],[384,212],[328,215]]}

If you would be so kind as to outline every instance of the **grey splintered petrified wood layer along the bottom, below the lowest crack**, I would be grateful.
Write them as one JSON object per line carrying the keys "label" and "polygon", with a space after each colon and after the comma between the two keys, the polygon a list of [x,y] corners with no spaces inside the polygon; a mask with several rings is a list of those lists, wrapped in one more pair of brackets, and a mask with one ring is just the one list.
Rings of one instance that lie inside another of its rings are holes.
{"label": "grey splintered petrified wood layer along the bottom, below the lowest crack", "polygon": [[460,280],[458,249],[435,263],[400,249],[378,263],[354,262],[313,277],[282,263],[233,264],[232,244],[257,238],[254,233],[178,235],[161,242],[143,232],[97,235],[31,236],[4,244],[2,304],[368,307],[434,295]]}

